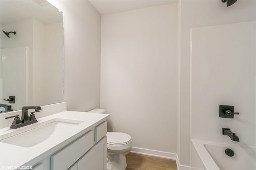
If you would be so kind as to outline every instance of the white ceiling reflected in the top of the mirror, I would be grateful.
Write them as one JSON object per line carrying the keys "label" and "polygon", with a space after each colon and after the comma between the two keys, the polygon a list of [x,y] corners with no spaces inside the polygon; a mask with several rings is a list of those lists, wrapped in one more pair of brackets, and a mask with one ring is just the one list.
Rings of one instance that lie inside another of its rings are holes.
{"label": "white ceiling reflected in the top of the mirror", "polygon": [[[41,3],[41,5],[38,4]],[[62,21],[62,12],[43,0],[0,0],[0,21],[8,23],[34,18],[44,24]]]}

